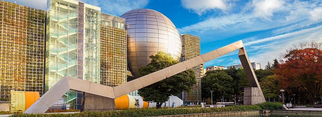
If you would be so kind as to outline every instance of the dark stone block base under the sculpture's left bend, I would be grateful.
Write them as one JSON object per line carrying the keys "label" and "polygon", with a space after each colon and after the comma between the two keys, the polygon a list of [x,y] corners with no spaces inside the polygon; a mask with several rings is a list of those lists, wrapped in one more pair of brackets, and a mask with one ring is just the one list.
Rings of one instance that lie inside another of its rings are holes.
{"label": "dark stone block base under the sculpture's left bend", "polygon": [[114,111],[115,102],[113,98],[100,95],[83,93],[81,112],[84,111]]}

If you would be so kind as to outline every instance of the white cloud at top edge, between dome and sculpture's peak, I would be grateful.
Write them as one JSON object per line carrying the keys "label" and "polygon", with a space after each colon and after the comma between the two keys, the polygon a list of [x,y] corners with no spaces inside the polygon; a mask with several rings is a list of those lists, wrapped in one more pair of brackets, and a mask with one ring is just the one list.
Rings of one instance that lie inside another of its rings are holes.
{"label": "white cloud at top edge, between dome and sculpture's peak", "polygon": [[228,7],[228,3],[223,0],[181,0],[181,4],[184,8],[191,9],[198,15],[213,9],[226,10]]}

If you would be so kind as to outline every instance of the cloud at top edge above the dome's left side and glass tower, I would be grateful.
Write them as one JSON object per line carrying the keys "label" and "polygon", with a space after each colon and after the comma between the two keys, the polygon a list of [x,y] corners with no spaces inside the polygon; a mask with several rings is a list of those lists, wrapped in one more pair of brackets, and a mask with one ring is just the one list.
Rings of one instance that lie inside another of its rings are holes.
{"label": "cloud at top edge above the dome's left side and glass tower", "polygon": [[101,7],[103,13],[120,16],[132,9],[144,8],[149,0],[81,0]]}

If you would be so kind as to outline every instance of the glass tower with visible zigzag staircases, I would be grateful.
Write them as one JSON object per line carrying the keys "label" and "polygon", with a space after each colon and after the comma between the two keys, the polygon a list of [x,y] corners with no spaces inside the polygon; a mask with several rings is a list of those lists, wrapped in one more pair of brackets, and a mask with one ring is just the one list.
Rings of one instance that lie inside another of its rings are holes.
{"label": "glass tower with visible zigzag staircases", "polygon": [[[100,7],[48,0],[44,92],[63,76],[100,83],[100,18]],[[81,104],[76,91],[68,91],[64,98],[71,107]]]}

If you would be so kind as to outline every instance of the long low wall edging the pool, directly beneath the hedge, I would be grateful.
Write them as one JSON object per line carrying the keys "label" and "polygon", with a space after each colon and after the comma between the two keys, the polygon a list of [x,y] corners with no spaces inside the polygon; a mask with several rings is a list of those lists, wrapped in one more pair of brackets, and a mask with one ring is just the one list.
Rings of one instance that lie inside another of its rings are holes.
{"label": "long low wall edging the pool, directly beneath the hedge", "polygon": [[196,114],[179,114],[179,115],[164,115],[154,117],[248,117],[258,115],[268,115],[269,110],[255,111],[233,111],[233,112],[218,112],[218,113],[196,113]]}

